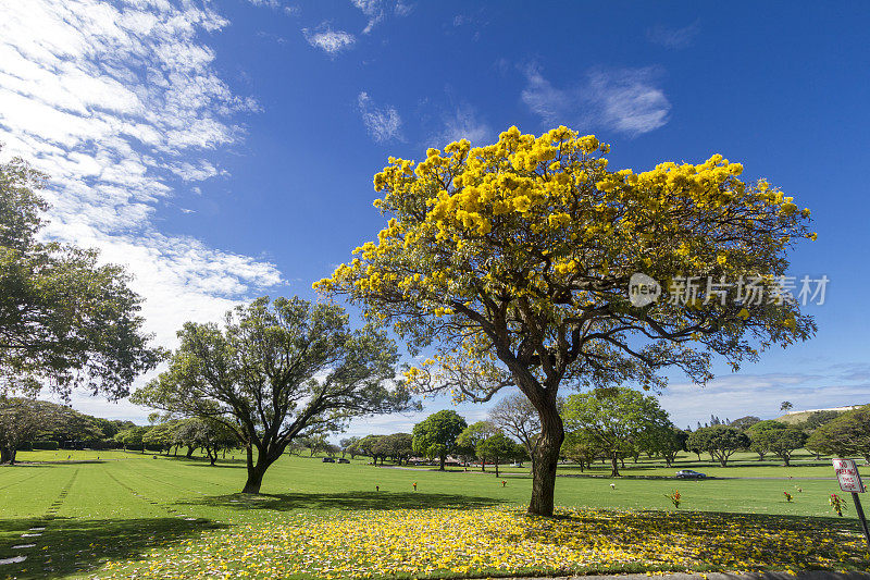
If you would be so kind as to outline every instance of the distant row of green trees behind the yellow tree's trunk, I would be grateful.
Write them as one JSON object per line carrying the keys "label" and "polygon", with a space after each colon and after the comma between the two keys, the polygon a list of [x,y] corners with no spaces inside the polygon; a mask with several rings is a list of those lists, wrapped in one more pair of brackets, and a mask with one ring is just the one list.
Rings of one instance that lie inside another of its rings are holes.
{"label": "distant row of green trees behind the yellow tree's trunk", "polygon": [[[816,411],[799,423],[761,420],[746,416],[733,421],[716,415],[697,429],[682,430],[649,395],[626,388],[608,388],[560,399],[559,412],[566,424],[561,458],[581,470],[595,461],[610,464],[619,476],[625,459],[642,455],[659,458],[671,467],[680,453],[697,454],[728,467],[738,452],[755,452],[791,465],[794,453],[807,448],[817,454],[862,456],[870,460],[870,405],[841,414]],[[468,424],[456,411],[431,415],[413,433],[368,435],[341,440],[341,455],[372,458],[374,465],[401,465],[411,457],[432,460],[445,468],[448,457],[465,465],[478,461],[481,469],[508,460],[533,458],[539,427],[537,414],[525,397],[509,395],[497,403],[484,421]]]}

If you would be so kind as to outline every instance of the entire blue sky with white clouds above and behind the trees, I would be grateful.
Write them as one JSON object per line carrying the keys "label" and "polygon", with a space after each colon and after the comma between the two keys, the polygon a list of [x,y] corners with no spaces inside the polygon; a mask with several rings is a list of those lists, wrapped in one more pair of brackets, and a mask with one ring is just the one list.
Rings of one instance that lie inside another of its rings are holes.
{"label": "entire blue sky with white clouds above and behind the trees", "polygon": [[[0,156],[53,176],[47,234],[125,263],[160,344],[247,298],[313,297],[383,218],[372,175],[564,124],[643,170],[721,152],[813,212],[818,336],[662,396],[684,427],[866,403],[870,5],[0,0]],[[448,406],[434,400],[426,411]],[[144,420],[126,403],[75,406]],[[484,407],[462,407],[470,419]],[[408,429],[411,417],[351,432]]]}

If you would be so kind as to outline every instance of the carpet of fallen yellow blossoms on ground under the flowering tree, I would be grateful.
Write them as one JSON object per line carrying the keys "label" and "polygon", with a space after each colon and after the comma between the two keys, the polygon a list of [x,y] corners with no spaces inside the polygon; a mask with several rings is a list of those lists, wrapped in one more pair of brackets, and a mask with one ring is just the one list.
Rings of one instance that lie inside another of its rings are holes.
{"label": "carpet of fallen yellow blossoms on ground under the flowering tree", "polygon": [[422,578],[620,570],[866,569],[852,529],[786,517],[559,509],[300,515],[210,533],[117,578]]}

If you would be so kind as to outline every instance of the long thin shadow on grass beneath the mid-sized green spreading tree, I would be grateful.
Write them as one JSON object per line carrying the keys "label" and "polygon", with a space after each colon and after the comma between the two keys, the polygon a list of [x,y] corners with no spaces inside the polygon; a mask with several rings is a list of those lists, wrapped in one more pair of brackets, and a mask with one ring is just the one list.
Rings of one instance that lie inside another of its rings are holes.
{"label": "long thin shadow on grass beneath the mid-sized green spreading tree", "polygon": [[189,505],[210,505],[234,509],[427,509],[433,507],[490,507],[505,502],[493,497],[449,493],[279,493],[214,495],[188,502]]}

